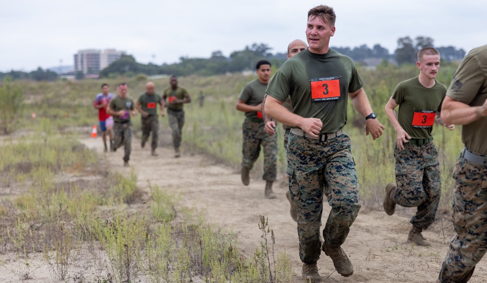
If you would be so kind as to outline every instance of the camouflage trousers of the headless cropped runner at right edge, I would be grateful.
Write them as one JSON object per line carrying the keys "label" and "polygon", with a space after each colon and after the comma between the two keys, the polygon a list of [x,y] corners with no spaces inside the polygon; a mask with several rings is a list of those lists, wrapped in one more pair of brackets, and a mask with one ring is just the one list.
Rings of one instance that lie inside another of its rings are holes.
{"label": "camouflage trousers of the headless cropped runner at right edge", "polygon": [[460,154],[453,169],[452,218],[456,235],[440,271],[442,283],[462,282],[487,251],[487,168]]}

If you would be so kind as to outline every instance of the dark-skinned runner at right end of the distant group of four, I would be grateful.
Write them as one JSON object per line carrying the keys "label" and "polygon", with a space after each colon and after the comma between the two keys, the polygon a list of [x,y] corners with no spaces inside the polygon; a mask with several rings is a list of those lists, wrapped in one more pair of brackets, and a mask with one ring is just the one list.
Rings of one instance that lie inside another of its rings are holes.
{"label": "dark-skinned runner at right end of the distant group of four", "polygon": [[[164,99],[163,103],[168,106],[169,126],[172,129],[172,144],[176,152],[174,157],[180,157],[181,151],[179,147],[181,146],[181,136],[185,123],[183,105],[191,102],[191,96],[189,96],[186,89],[178,87],[178,78],[176,76],[171,76],[169,84],[171,86],[164,90],[162,98]],[[166,98],[169,103],[166,103]]]}

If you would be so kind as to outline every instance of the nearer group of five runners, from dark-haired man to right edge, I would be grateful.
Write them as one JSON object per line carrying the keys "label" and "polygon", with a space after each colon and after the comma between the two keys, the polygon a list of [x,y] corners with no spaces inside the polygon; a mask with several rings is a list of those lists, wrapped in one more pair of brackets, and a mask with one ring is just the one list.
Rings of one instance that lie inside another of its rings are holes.
{"label": "nearer group of five runners, from dark-haired man to right edge", "polygon": [[[262,146],[266,181],[264,196],[275,198],[276,123],[283,124],[292,218],[297,221],[302,276],[321,282],[317,261],[321,251],[342,276],[354,273],[341,248],[361,204],[351,141],[343,133],[347,101],[365,119],[366,135],[375,140],[384,126],[376,117],[351,58],[329,48],[335,34],[333,8],[319,5],[308,12],[306,43],[288,46],[288,60],[271,79],[271,63],[256,64],[258,78],[248,83],[236,109],[245,112],[242,182]],[[453,222],[456,235],[450,242],[437,282],[468,282],[475,265],[487,251],[487,45],[464,58],[450,88],[435,80],[440,53],[432,47],[417,54],[419,75],[400,82],[385,106],[396,132],[395,183],[385,185],[384,211],[395,206],[417,207],[411,218],[408,242],[429,246],[422,231],[435,219],[441,194],[438,153],[432,142],[434,121],[454,130],[463,125],[465,144],[453,177]],[[399,106],[397,114],[395,108]],[[373,166],[373,164],[371,164]],[[322,230],[320,221],[326,197],[331,211]]]}

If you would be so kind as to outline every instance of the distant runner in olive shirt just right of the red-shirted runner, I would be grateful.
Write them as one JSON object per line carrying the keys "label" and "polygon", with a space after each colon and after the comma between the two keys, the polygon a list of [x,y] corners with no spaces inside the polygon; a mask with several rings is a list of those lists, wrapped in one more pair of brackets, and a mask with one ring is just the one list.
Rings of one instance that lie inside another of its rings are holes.
{"label": "distant runner in olive shirt just right of the red-shirted runner", "polygon": [[120,83],[117,87],[118,96],[112,99],[107,113],[113,115],[113,151],[122,145],[125,148],[124,166],[129,166],[132,149],[132,122],[130,116],[135,116],[133,100],[127,97],[127,84]]}

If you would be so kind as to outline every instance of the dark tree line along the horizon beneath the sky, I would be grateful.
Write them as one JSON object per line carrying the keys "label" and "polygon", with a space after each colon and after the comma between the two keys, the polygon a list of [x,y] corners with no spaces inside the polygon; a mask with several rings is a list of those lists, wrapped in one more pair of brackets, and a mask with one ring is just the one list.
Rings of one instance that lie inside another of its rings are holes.
{"label": "dark tree line along the horizon beneath the sky", "polygon": [[[394,53],[375,44],[372,48],[367,45],[358,47],[335,47],[332,49],[351,57],[357,64],[366,65],[366,60],[375,58],[380,60],[392,61],[397,65],[414,64],[417,59],[416,55],[424,47],[432,46],[433,39],[428,36],[417,36],[412,39],[409,36],[397,39],[397,48]],[[461,60],[465,56],[463,49],[456,49],[453,46],[435,47],[441,54],[441,59],[446,62]],[[122,55],[120,59],[113,62],[110,66],[100,71],[100,78],[113,78],[119,75],[135,76],[137,74],[146,75],[178,75],[187,76],[196,75],[218,75],[228,72],[241,72],[245,70],[254,70],[255,63],[265,59],[277,68],[287,59],[286,53],[271,53],[271,47],[264,43],[253,43],[245,46],[244,50],[234,51],[230,56],[225,57],[222,51],[214,51],[209,58],[189,58],[180,57],[178,63],[155,65],[152,63],[138,63],[131,55]],[[58,75],[55,72],[43,71],[40,67],[37,71],[25,73],[21,71],[11,71],[8,73],[0,72],[0,79],[10,76],[14,79],[31,79],[31,80],[56,80]],[[76,79],[82,79],[83,73],[78,72]]]}

